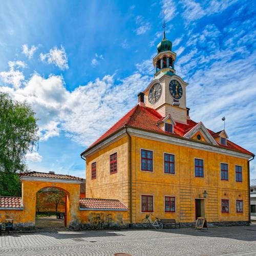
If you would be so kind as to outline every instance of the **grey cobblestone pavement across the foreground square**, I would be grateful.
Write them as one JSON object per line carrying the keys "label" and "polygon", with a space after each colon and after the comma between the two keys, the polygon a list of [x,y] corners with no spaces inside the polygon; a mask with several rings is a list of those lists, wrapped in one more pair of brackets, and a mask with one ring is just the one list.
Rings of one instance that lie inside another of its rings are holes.
{"label": "grey cobblestone pavement across the foreground square", "polygon": [[0,255],[256,255],[256,224],[157,230],[13,233],[0,237]]}

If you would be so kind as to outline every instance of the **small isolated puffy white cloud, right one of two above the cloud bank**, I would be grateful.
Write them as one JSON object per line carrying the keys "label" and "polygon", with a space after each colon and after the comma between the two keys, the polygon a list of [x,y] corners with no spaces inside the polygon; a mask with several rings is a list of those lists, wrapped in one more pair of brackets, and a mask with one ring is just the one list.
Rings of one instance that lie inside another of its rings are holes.
{"label": "small isolated puffy white cloud, right one of two above the cloud bank", "polygon": [[54,64],[61,70],[68,69],[68,57],[63,46],[58,49],[56,46],[50,49],[49,53],[40,53],[41,61]]}

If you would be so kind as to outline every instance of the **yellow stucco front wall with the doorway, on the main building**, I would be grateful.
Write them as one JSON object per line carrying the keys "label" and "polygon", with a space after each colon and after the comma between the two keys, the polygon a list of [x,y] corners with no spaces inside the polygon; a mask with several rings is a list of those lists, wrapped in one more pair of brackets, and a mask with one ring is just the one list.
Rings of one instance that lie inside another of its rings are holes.
{"label": "yellow stucco front wall with the doorway, on the main building", "polygon": [[[140,170],[140,149],[153,151],[153,173]],[[175,175],[164,174],[163,154],[175,155]],[[195,177],[194,158],[204,159],[204,178]],[[248,221],[247,160],[150,139],[132,137],[133,222],[141,222],[141,195],[154,195],[153,215],[181,222],[195,221],[195,199],[205,201],[207,221]],[[228,163],[229,180],[222,181],[220,163]],[[243,166],[243,182],[235,181],[235,165]],[[176,212],[164,212],[164,196],[176,197]],[[229,199],[229,213],[221,213],[221,199]],[[236,213],[236,200],[244,201],[244,212]]]}

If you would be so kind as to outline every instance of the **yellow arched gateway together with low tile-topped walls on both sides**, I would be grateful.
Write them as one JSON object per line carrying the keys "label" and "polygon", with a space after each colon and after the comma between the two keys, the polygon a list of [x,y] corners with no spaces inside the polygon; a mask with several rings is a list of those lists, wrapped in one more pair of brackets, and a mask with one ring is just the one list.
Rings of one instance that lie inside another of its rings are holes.
{"label": "yellow arched gateway together with low tile-topped walls on both sides", "polygon": [[80,198],[82,178],[49,173],[20,174],[22,197],[0,197],[0,223],[13,219],[18,229],[34,228],[36,219],[36,194],[46,187],[63,190],[66,194],[66,219],[68,228],[119,225],[127,223],[127,206],[117,199]]}

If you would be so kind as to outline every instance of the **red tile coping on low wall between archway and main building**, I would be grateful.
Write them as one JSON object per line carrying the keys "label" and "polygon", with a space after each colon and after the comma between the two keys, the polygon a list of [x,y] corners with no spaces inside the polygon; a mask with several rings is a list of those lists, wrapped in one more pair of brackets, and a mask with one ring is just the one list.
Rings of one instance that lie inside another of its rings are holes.
{"label": "red tile coping on low wall between archway and main building", "polygon": [[127,210],[127,207],[119,200],[94,198],[80,198],[80,208]]}

